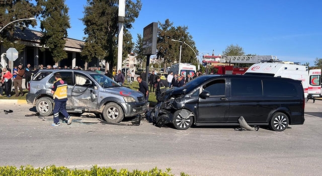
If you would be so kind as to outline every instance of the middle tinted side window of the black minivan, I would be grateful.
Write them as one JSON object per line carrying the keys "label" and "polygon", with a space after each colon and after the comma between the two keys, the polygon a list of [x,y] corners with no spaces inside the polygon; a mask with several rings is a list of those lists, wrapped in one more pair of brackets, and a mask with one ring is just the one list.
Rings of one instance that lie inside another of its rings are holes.
{"label": "middle tinted side window of the black minivan", "polygon": [[260,79],[231,79],[232,96],[262,96]]}

